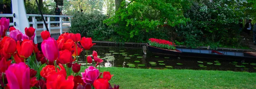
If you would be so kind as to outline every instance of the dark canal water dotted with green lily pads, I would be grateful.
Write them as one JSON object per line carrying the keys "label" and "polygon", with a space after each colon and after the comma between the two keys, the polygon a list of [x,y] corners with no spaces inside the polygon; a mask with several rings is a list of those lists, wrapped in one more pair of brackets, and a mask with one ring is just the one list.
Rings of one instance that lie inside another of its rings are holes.
{"label": "dark canal water dotted with green lily pads", "polygon": [[[143,55],[142,47],[106,47],[97,45],[93,46],[88,54],[91,55],[93,50],[97,51],[99,58],[104,60],[100,64],[100,66],[104,67],[256,72],[256,61],[164,56],[153,54],[149,51],[147,51],[146,55]],[[86,53],[83,51],[79,61],[84,65],[85,60]],[[95,63],[93,64],[95,65]]]}

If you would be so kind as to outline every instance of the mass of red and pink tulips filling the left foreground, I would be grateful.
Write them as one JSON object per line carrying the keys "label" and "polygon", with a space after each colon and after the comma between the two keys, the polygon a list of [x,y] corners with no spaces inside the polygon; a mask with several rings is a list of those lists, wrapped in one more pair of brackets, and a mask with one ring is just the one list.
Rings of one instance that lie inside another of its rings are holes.
{"label": "mass of red and pink tulips filling the left foreground", "polygon": [[[41,51],[33,42],[35,28],[25,28],[25,34],[14,27],[9,28],[6,36],[5,21],[0,20],[0,87],[2,89],[119,89],[112,88],[110,72],[100,72],[98,66],[103,62],[93,51],[93,57],[87,56],[86,62],[94,66],[86,67],[79,73],[81,64],[78,56],[86,53],[94,44],[91,38],[79,33],[63,33],[55,40],[48,31],[43,31]],[[8,28],[7,28],[8,29]],[[79,43],[80,42],[80,43]],[[96,68],[98,66],[98,69]]]}

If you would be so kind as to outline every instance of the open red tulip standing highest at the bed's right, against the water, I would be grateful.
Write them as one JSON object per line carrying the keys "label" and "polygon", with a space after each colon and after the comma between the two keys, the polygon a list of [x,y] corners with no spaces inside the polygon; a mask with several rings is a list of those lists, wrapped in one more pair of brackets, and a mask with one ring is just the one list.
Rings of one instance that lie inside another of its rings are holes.
{"label": "open red tulip standing highest at the bed's right, against the water", "polygon": [[82,38],[80,43],[84,47],[84,50],[90,50],[90,48],[93,45],[95,45],[95,43],[93,43],[93,40],[91,38],[85,38],[85,37]]}

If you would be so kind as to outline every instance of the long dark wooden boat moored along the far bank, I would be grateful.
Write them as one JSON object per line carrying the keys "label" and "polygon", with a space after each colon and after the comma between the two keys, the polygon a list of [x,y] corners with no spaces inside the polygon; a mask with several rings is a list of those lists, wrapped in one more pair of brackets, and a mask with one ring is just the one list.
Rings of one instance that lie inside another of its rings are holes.
{"label": "long dark wooden boat moored along the far bank", "polygon": [[152,53],[172,55],[172,56],[186,56],[196,58],[212,58],[212,59],[230,59],[230,60],[254,60],[256,61],[256,52],[254,55],[242,51],[225,51],[225,50],[208,50],[208,49],[193,49],[176,47],[175,50],[167,50],[158,47],[153,47],[146,44],[148,50]]}

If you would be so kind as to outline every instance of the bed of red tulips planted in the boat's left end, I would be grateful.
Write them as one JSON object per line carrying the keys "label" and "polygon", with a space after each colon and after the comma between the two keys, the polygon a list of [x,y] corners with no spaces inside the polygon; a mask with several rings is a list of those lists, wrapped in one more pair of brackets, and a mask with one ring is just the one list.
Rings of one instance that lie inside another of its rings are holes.
{"label": "bed of red tulips planted in the boat's left end", "polygon": [[175,43],[164,40],[164,39],[150,38],[148,40],[149,40],[148,41],[149,45],[154,46],[154,47],[160,47],[160,48],[169,49],[169,50],[175,50],[176,49],[175,48],[175,46],[176,46]]}

